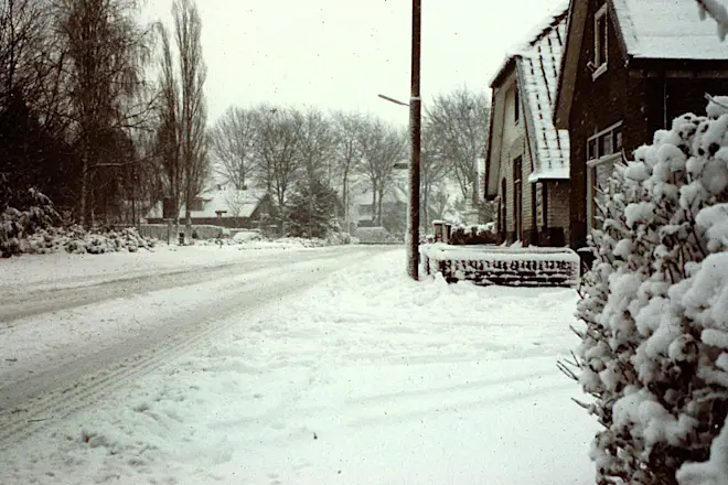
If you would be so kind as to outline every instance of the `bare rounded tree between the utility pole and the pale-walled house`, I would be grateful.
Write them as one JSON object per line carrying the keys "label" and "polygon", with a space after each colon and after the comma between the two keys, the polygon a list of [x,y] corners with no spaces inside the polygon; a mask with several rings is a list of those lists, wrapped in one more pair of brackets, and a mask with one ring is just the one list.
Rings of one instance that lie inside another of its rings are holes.
{"label": "bare rounded tree between the utility pole and the pale-walled house", "polygon": [[478,183],[475,159],[488,143],[490,105],[485,93],[467,88],[435,97],[425,110],[424,129],[429,142],[445,157],[463,200],[474,198]]}

